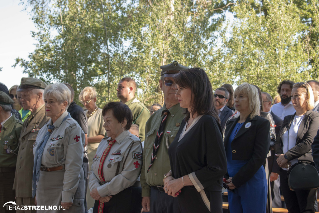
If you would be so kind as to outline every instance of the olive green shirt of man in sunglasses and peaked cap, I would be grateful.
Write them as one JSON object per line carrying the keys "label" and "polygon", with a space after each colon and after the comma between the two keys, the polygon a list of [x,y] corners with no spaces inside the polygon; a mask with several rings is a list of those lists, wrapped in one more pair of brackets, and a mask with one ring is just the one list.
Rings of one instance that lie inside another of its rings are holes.
{"label": "olive green shirt of man in sunglasses and peaked cap", "polygon": [[142,185],[142,197],[149,197],[151,193],[150,186],[163,185],[164,174],[171,170],[168,157],[168,147],[173,142],[182,120],[185,115],[183,114],[183,108],[180,104],[176,104],[168,109],[169,115],[167,116],[166,125],[164,128],[164,135],[161,138],[161,142],[156,154],[156,159],[149,172],[148,167],[151,163],[151,156],[153,153],[153,144],[156,138],[159,125],[163,119],[163,111],[167,109],[164,104],[163,108],[157,110],[152,114],[150,119],[146,122],[146,134],[144,142],[143,153],[143,167],[141,170],[141,185]]}

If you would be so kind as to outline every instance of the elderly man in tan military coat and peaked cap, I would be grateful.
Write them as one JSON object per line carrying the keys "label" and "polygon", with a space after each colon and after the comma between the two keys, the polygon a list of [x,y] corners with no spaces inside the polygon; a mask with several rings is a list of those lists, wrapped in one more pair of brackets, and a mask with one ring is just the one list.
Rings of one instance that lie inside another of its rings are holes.
{"label": "elderly man in tan military coat and peaked cap", "polygon": [[[37,78],[21,78],[17,91],[21,92],[20,102],[31,115],[23,123],[19,138],[19,153],[13,189],[16,190],[17,205],[34,205],[32,198],[33,143],[39,130],[48,122],[45,115],[43,92],[46,84]],[[36,212],[36,210],[17,210],[17,212]]]}

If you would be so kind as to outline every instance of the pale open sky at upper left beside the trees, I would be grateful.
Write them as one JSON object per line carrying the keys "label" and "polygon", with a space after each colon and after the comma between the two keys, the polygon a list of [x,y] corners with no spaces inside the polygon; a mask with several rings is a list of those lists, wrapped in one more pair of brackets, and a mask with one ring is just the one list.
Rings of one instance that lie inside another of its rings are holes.
{"label": "pale open sky at upper left beside the trees", "polygon": [[15,84],[20,84],[23,74],[22,67],[11,67],[15,59],[27,59],[28,54],[35,49],[31,31],[36,28],[30,15],[24,11],[24,6],[19,5],[20,0],[0,0],[0,82],[8,89]]}

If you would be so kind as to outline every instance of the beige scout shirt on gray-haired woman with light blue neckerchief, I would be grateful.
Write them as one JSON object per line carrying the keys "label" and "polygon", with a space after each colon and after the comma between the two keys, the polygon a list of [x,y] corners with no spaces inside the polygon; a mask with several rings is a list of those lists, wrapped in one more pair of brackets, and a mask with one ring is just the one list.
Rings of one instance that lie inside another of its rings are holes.
{"label": "beige scout shirt on gray-haired woman with light blue neckerchief", "polygon": [[[53,123],[55,128],[44,147],[41,165],[48,168],[65,165],[62,202],[73,202],[73,197],[80,180],[85,134],[73,118],[68,118],[62,122],[63,118],[67,115],[68,112],[64,112],[56,122]],[[33,152],[35,152],[36,147],[40,145],[41,140],[47,133],[48,124],[52,125],[51,119],[40,130],[34,144]],[[54,173],[52,173],[52,175],[54,175]],[[39,184],[45,183],[37,183],[37,186]]]}

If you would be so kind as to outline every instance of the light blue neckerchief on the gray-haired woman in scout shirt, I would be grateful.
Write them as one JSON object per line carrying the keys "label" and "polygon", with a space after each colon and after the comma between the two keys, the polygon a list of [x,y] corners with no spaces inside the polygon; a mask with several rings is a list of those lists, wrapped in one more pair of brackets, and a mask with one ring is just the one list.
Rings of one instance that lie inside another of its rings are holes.
{"label": "light blue neckerchief on the gray-haired woman in scout shirt", "polygon": [[[68,119],[70,117],[71,117],[70,113],[68,113],[68,115],[63,118],[63,121],[65,121],[66,119]],[[63,121],[61,123],[63,123]],[[39,182],[40,167],[41,167],[43,150],[44,150],[45,145],[48,142],[48,139],[49,139],[53,129],[54,129],[54,126],[48,124],[47,133],[45,134],[45,136],[42,138],[40,144],[35,149],[34,160],[33,160],[33,163],[34,163],[33,164],[33,178],[32,178],[32,197],[33,198],[36,194],[36,187],[37,187],[36,182]]]}

